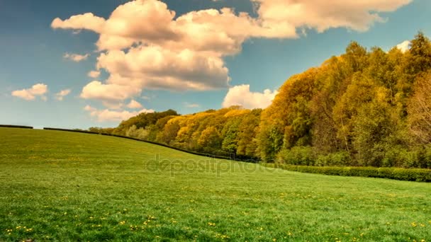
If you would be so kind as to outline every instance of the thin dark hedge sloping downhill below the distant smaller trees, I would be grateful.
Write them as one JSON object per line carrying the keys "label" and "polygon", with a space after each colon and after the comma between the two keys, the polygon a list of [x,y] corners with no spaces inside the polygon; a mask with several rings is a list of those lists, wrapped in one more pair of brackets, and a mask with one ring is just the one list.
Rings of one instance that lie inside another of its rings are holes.
{"label": "thin dark hedge sloping downhill below the distant smaller trees", "polygon": [[257,162],[257,161],[254,161],[252,159],[248,159],[248,157],[247,158],[243,158],[243,157],[235,157],[235,156],[229,157],[229,156],[216,156],[216,155],[213,155],[213,154],[204,154],[204,153],[199,153],[199,152],[195,152],[195,151],[189,151],[189,150],[186,150],[186,149],[177,148],[177,147],[174,147],[174,146],[169,146],[167,144],[161,144],[161,143],[152,142],[152,141],[143,140],[143,139],[136,139],[136,138],[133,138],[133,137],[127,137],[127,136],[118,135],[118,134],[106,134],[106,133],[99,133],[99,132],[91,132],[91,131],[86,131],[86,130],[81,130],[81,129],[59,129],[59,128],[51,128],[51,127],[44,127],[43,129],[57,130],[57,131],[66,131],[66,132],[78,132],[78,133],[85,133],[85,134],[101,134],[101,135],[106,135],[106,136],[113,136],[113,137],[118,137],[118,138],[123,138],[123,139],[132,139],[132,140],[135,140],[135,141],[138,141],[138,142],[145,142],[145,143],[148,143],[148,144],[155,144],[155,145],[159,145],[159,146],[164,146],[164,147],[167,147],[169,149],[175,149],[177,151],[183,151],[183,152],[186,152],[186,153],[189,153],[189,154],[194,154],[194,155],[197,155],[197,156],[206,156],[206,157],[211,157],[211,158],[214,158],[214,159],[227,159],[227,160],[235,160],[235,161]]}

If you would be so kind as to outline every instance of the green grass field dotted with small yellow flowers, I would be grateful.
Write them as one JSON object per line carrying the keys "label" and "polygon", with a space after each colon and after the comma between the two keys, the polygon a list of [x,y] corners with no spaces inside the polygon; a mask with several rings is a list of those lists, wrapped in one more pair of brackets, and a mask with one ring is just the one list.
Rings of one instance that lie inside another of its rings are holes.
{"label": "green grass field dotted with small yellow flowers", "polygon": [[431,184],[0,128],[0,241],[431,241]]}

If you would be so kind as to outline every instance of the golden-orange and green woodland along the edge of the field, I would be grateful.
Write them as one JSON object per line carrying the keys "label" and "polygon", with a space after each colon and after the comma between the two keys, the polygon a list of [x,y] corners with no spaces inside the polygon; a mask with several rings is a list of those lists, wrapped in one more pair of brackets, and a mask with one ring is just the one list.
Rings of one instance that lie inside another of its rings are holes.
{"label": "golden-orange and green woodland along the edge of the field", "polygon": [[291,76],[268,108],[141,113],[126,135],[217,155],[306,166],[431,168],[431,42],[344,54]]}

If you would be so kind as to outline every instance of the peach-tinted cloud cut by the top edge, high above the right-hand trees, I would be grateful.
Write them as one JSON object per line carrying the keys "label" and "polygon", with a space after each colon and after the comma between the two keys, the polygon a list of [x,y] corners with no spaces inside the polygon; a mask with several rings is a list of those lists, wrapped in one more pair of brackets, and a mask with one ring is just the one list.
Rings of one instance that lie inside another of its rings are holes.
{"label": "peach-tinted cloud cut by the top edge, high above the right-hand trees", "polygon": [[[384,22],[379,13],[396,11],[413,0],[252,0],[264,26],[308,27],[323,32],[329,28],[366,31]],[[281,28],[282,29],[282,28]]]}

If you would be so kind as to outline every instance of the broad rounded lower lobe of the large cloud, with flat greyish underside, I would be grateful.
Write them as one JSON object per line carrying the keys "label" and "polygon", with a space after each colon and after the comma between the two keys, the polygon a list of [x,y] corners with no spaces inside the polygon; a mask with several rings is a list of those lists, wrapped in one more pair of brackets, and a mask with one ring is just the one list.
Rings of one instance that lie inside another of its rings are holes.
{"label": "broad rounded lower lobe of the large cloud, with flat greyish underside", "polygon": [[136,88],[208,90],[228,86],[223,59],[201,52],[173,52],[157,46],[132,47],[128,52],[112,50],[98,58],[98,68],[111,76],[108,83]]}

